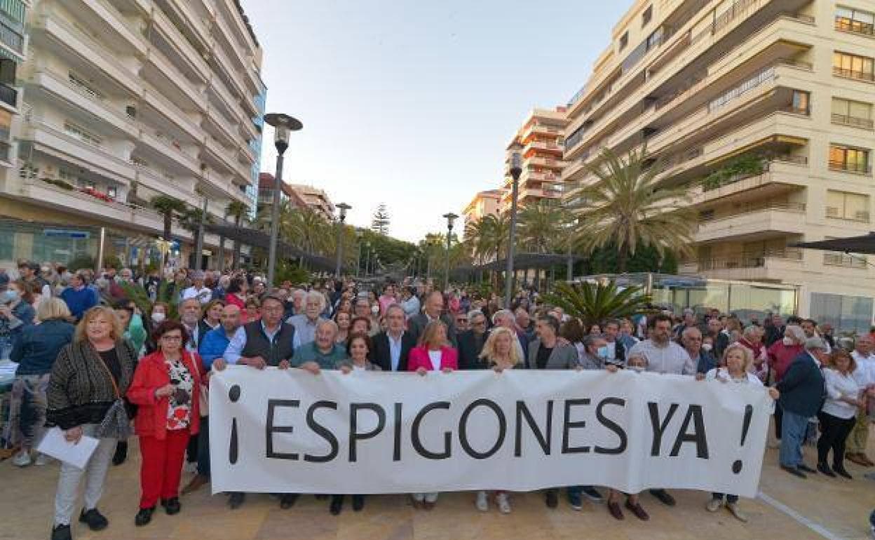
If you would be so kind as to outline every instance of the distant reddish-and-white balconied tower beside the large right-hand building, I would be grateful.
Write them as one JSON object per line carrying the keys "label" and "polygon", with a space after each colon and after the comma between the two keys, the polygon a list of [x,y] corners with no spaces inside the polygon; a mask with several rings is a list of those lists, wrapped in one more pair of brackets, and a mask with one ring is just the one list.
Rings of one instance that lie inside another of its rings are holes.
{"label": "distant reddish-and-white balconied tower beside the large right-hand building", "polygon": [[[517,204],[525,207],[540,200],[559,200],[562,190],[563,130],[568,124],[564,107],[533,109],[525,122],[507,144],[505,163],[510,164],[512,149],[521,144],[522,174],[517,193]],[[513,197],[512,181],[505,179],[500,200],[501,212],[510,210]]]}

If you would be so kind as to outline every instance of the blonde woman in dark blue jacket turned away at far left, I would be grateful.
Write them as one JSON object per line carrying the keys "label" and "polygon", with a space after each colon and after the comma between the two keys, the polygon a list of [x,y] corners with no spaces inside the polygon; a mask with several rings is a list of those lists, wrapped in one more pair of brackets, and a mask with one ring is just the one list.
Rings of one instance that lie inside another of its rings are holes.
{"label": "blonde woman in dark blue jacket turned away at far left", "polygon": [[[12,383],[11,409],[18,410],[21,452],[12,459],[16,466],[31,464],[31,450],[42,438],[45,425],[45,391],[52,365],[60,349],[73,340],[74,326],[64,300],[46,298],[37,310],[38,325],[28,326],[12,347],[11,361],[18,363]],[[35,464],[45,465],[39,454]]]}

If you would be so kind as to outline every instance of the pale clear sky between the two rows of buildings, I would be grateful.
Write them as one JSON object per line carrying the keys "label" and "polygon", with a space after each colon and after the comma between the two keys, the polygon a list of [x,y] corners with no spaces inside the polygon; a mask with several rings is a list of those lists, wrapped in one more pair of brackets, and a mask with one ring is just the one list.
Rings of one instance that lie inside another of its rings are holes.
{"label": "pale clear sky between the two rows of buildings", "polygon": [[[507,142],[534,107],[564,105],[632,0],[243,0],[262,45],[267,112],[304,123],[283,179],[352,205],[389,234],[444,232],[500,186]],[[275,171],[264,131],[262,171]]]}

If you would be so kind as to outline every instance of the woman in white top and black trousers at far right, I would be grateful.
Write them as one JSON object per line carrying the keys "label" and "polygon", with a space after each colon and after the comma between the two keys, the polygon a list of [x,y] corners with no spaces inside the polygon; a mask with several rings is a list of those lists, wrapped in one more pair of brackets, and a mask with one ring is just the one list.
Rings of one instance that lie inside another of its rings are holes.
{"label": "woman in white top and black trousers at far right", "polygon": [[[830,368],[823,369],[826,380],[826,401],[817,413],[821,436],[817,439],[817,470],[832,478],[836,474],[851,480],[844,469],[844,441],[857,421],[857,411],[865,403],[862,390],[854,380],[857,362],[843,349],[830,354]],[[827,457],[832,450],[832,469]]]}

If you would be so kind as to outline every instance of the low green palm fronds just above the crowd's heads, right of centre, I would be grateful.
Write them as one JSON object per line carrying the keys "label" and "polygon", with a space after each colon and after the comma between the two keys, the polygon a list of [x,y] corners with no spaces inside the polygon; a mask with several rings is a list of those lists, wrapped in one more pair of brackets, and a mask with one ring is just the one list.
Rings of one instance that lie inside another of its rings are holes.
{"label": "low green palm fronds just above the crowd's heads, right of centre", "polygon": [[548,304],[558,305],[584,328],[604,324],[606,319],[623,319],[647,310],[651,298],[641,287],[620,291],[613,280],[607,284],[556,282],[556,291],[543,295]]}

